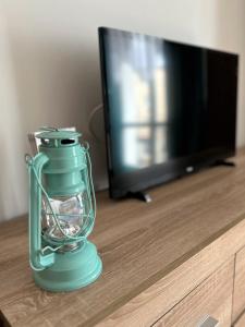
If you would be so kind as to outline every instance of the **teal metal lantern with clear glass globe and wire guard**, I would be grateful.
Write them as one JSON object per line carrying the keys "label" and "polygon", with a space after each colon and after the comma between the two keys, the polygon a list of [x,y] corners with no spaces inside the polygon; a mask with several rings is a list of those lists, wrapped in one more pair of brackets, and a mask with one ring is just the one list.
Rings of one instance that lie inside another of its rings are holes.
{"label": "teal metal lantern with clear glass globe and wire guard", "polygon": [[102,270],[87,240],[96,216],[88,146],[77,132],[40,132],[39,153],[26,155],[29,173],[29,263],[34,280],[50,291],[71,291]]}

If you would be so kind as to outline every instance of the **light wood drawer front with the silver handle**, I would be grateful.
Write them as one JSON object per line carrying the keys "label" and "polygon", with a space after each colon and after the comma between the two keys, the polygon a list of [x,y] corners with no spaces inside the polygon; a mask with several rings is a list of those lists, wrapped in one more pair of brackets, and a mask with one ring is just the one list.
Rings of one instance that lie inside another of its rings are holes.
{"label": "light wood drawer front with the silver handle", "polygon": [[154,327],[197,327],[205,317],[231,326],[234,259],[225,263],[185,296]]}

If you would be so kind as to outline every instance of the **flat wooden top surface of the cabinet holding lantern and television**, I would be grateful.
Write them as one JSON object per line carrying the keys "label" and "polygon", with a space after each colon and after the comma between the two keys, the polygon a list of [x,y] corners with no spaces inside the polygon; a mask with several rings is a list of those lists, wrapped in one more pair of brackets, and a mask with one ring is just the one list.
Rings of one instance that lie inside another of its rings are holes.
{"label": "flat wooden top surface of the cabinet holding lantern and television", "polygon": [[168,276],[245,217],[245,150],[216,167],[149,191],[152,202],[97,194],[91,241],[103,263],[85,289],[51,293],[34,284],[27,216],[0,225],[0,311],[11,326],[94,326]]}

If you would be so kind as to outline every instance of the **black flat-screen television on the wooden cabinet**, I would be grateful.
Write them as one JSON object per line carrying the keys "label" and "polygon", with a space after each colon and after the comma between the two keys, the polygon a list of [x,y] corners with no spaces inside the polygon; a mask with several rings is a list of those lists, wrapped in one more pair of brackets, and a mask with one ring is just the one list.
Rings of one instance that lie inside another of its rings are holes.
{"label": "black flat-screen television on the wooden cabinet", "polygon": [[238,56],[99,28],[111,197],[235,154]]}

